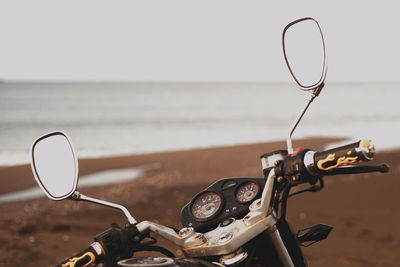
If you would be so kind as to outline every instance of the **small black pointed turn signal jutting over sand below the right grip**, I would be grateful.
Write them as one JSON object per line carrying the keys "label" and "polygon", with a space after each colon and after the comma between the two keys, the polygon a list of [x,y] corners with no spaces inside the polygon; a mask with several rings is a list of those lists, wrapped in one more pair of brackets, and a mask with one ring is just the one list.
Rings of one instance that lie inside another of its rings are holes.
{"label": "small black pointed turn signal jutting over sand below the right grip", "polygon": [[297,240],[303,247],[309,247],[328,237],[333,227],[325,224],[316,224],[297,232]]}

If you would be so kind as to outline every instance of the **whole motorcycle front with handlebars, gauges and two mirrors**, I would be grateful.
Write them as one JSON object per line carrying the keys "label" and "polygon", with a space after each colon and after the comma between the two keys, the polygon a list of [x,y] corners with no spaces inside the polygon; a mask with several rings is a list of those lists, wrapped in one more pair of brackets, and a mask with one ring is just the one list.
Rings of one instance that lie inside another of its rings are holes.
{"label": "whole motorcycle front with handlebars, gauges and two mirrors", "polygon": [[[322,190],[324,176],[388,172],[389,166],[355,165],[373,159],[370,140],[320,152],[293,149],[292,134],[324,87],[327,58],[320,25],[310,17],[284,28],[282,46],[295,83],[310,96],[290,127],[287,149],[260,157],[264,177],[223,178],[194,196],[181,211],[182,229],[138,222],[122,205],[79,193],[78,161],[70,138],[59,131],[38,138],[31,148],[31,166],[47,197],[119,209],[128,219],[124,227],[112,224],[88,248],[56,266],[307,266],[301,246],[326,239],[332,227],[316,224],[294,232],[286,220],[288,199]],[[291,193],[302,184],[309,187]],[[179,246],[185,258],[155,245],[155,235]],[[140,251],[163,256],[134,257]]]}

